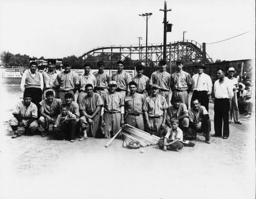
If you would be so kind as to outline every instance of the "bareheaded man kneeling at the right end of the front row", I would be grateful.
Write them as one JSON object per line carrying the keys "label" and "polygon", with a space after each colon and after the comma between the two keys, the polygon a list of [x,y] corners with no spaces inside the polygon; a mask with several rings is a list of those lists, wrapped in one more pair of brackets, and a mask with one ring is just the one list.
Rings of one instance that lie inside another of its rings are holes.
{"label": "bareheaded man kneeling at the right end of the front row", "polygon": [[196,138],[196,132],[203,132],[205,142],[210,144],[211,121],[204,106],[201,106],[198,99],[192,101],[192,108],[188,110],[189,126],[188,135]]}

